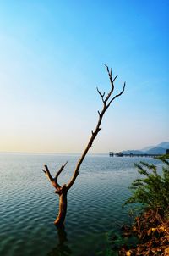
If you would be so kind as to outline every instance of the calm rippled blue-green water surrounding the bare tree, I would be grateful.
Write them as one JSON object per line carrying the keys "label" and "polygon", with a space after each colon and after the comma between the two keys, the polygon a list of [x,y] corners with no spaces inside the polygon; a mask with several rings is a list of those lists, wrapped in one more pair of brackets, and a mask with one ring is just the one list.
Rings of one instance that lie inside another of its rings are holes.
{"label": "calm rippled blue-green water surrounding the bare tree", "polygon": [[134,163],[140,159],[88,156],[68,192],[65,231],[58,233],[53,225],[58,198],[41,169],[48,164],[54,175],[68,160],[59,180],[63,184],[78,159],[78,155],[0,154],[1,256],[105,255],[109,232],[128,221],[122,204],[138,176]]}

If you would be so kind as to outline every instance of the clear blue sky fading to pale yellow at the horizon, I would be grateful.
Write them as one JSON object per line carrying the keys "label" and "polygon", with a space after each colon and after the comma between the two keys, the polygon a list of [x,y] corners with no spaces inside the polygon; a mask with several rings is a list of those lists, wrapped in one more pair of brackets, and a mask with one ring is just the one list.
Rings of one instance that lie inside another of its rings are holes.
{"label": "clear blue sky fading to pale yellow at the horizon", "polygon": [[80,153],[104,64],[126,91],[90,153],[169,141],[169,1],[1,0],[0,152]]}

